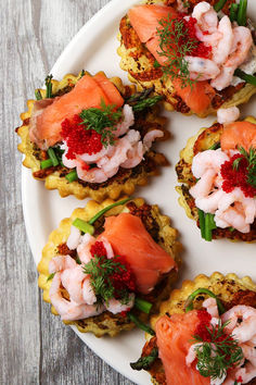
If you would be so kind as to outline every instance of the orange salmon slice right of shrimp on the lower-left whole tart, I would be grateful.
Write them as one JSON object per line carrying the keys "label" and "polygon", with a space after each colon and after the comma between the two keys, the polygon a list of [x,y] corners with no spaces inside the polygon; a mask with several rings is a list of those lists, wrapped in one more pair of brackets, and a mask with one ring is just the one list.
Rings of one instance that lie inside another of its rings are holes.
{"label": "orange salmon slice right of shrimp on the lower-left whole tart", "polygon": [[176,268],[176,262],[146,232],[140,218],[130,213],[106,218],[106,238],[115,254],[126,258],[136,276],[137,289],[149,294],[164,273]]}

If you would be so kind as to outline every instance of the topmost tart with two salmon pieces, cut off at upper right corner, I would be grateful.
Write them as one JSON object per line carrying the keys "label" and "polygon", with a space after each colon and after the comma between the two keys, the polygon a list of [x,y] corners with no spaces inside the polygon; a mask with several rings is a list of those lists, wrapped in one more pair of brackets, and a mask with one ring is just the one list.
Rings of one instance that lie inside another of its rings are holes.
{"label": "topmost tart with two salmon pieces, cut off at upper right corner", "polygon": [[246,0],[149,0],[120,21],[120,67],[167,110],[207,116],[256,92]]}

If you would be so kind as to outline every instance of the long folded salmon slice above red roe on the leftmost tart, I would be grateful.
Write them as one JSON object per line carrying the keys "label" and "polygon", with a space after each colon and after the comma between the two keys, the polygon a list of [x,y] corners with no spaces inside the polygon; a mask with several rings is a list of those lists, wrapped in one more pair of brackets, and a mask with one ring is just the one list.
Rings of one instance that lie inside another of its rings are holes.
{"label": "long folded salmon slice above red roe on the leftmost tart", "polygon": [[[103,74],[82,76],[74,89],[53,102],[43,111],[33,113],[29,125],[29,138],[39,148],[47,149],[61,141],[61,123],[65,119],[72,119],[84,109],[100,108],[101,102],[106,105],[121,107],[124,100],[117,88]],[[35,109],[37,102],[35,102]]]}

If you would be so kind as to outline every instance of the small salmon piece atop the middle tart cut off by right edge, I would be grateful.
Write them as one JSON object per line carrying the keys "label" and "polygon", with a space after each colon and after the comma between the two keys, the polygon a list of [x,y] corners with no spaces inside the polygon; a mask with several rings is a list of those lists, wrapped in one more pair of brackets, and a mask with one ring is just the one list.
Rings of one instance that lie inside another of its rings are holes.
{"label": "small salmon piece atop the middle tart cut off by right edge", "polygon": [[256,148],[256,124],[251,122],[233,122],[225,125],[220,138],[223,151],[243,147],[246,151]]}

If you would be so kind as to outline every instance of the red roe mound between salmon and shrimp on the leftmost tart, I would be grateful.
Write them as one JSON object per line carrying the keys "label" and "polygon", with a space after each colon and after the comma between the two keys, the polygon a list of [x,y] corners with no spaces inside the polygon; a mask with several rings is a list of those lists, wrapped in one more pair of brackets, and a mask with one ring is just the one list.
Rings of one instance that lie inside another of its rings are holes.
{"label": "red roe mound between salmon and shrimp on the leftmost tart", "polygon": [[86,129],[79,115],[62,122],[62,138],[66,140],[68,151],[67,159],[76,159],[76,154],[97,153],[102,149],[101,135],[94,129]]}

